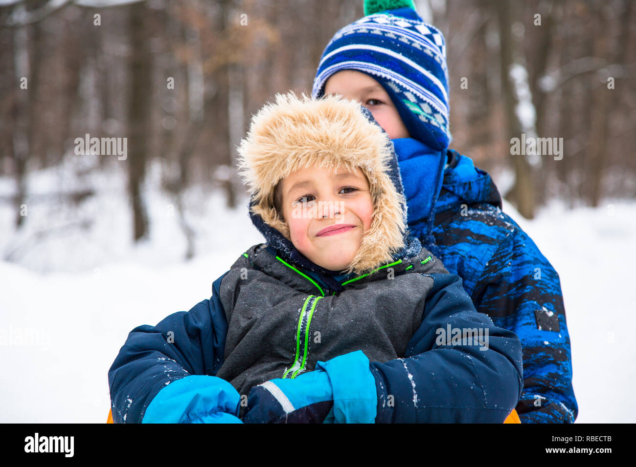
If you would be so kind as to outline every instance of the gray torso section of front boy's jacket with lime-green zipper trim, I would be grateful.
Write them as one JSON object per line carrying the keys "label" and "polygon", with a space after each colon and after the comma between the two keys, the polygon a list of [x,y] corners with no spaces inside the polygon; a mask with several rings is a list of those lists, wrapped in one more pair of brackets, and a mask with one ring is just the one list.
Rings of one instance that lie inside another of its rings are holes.
{"label": "gray torso section of front boy's jacket with lime-green zipper trim", "polygon": [[219,287],[228,333],[216,376],[241,394],[356,350],[371,362],[403,357],[422,323],[430,274],[446,273],[422,249],[346,281],[336,294],[266,247],[251,247]]}

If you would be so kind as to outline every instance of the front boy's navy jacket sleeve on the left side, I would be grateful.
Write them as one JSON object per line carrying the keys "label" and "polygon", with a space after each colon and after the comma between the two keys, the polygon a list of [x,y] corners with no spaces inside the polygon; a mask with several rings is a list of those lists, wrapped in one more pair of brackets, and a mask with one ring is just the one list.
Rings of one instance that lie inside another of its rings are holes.
{"label": "front boy's navy jacket sleeve on the left side", "polygon": [[219,300],[224,276],[212,284],[211,299],[128,334],[108,371],[114,423],[141,423],[153,398],[171,382],[216,374],[228,328]]}

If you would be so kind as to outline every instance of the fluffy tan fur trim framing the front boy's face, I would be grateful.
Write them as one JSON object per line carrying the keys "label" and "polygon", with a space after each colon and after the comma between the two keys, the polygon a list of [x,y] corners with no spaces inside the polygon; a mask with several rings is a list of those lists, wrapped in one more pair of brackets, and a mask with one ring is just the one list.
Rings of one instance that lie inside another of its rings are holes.
{"label": "fluffy tan fur trim framing the front boy's face", "polygon": [[[290,173],[317,165],[334,170],[360,167],[370,183],[373,217],[347,273],[364,274],[392,260],[404,247],[406,229],[398,193],[389,176],[391,141],[354,100],[312,99],[293,91],[275,95],[252,116],[239,147],[239,170],[252,196],[252,212],[287,240],[289,228],[274,208],[274,189]],[[398,175],[399,176],[399,175]]]}

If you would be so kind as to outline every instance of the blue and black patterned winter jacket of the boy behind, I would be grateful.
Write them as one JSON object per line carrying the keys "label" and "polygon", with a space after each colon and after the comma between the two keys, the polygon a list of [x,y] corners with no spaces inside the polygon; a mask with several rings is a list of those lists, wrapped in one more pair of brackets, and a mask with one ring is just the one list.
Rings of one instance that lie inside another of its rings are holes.
{"label": "blue and black patterned winter jacket of the boy behind", "polygon": [[[412,172],[401,174],[408,186]],[[407,203],[411,234],[425,244],[422,206],[411,199]],[[523,391],[516,410],[522,423],[573,423],[578,408],[558,274],[501,206],[490,175],[448,150],[434,206],[432,234],[438,249],[432,251],[462,278],[477,311],[521,339]]]}

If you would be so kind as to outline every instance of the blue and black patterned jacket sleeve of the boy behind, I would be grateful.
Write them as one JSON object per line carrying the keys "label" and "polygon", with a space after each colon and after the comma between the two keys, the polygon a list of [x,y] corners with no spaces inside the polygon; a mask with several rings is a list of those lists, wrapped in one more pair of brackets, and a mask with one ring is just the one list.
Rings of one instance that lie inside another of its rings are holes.
{"label": "blue and black patterned jacket sleeve of the boy behind", "polygon": [[524,387],[516,411],[522,423],[573,423],[578,407],[560,280],[520,227],[487,262],[473,302],[521,339]]}

